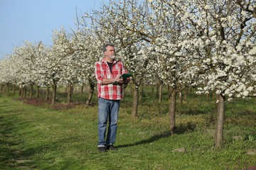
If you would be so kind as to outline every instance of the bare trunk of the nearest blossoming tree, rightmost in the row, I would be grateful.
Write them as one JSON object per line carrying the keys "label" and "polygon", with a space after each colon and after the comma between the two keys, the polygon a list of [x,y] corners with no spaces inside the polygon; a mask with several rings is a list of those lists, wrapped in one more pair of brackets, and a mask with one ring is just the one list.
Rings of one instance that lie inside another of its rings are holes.
{"label": "bare trunk of the nearest blossoming tree, rightmost in the row", "polygon": [[218,115],[215,129],[215,147],[219,147],[223,141],[224,128],[224,113],[225,113],[225,96],[218,95]]}

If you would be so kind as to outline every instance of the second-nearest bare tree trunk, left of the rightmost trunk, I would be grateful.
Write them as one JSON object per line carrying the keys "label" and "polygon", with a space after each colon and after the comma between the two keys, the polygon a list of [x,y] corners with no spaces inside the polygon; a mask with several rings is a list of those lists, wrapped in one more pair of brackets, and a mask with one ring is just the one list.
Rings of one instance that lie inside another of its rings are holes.
{"label": "second-nearest bare tree trunk, left of the rightmost trunk", "polygon": [[176,129],[175,114],[176,114],[176,89],[171,91],[170,103],[169,103],[169,130],[173,133]]}

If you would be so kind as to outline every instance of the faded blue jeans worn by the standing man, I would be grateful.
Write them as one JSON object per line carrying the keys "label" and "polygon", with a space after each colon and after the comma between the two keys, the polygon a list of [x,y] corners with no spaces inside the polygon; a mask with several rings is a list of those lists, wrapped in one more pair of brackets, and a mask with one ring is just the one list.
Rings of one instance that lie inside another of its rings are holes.
{"label": "faded blue jeans worn by the standing man", "polygon": [[[99,122],[98,122],[98,147],[114,144],[117,135],[117,118],[119,112],[119,100],[107,100],[104,98],[98,99]],[[107,130],[107,119],[109,119],[109,126]],[[107,140],[105,140],[107,130]]]}

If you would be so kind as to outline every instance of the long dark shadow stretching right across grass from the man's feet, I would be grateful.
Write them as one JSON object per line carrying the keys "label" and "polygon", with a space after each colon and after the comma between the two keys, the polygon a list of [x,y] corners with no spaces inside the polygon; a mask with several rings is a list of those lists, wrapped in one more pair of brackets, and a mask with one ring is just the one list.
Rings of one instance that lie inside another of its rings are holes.
{"label": "long dark shadow stretching right across grass from the man's feet", "polygon": [[195,129],[196,129],[196,125],[192,125],[191,123],[187,123],[186,125],[179,125],[176,129],[174,129],[173,133],[168,130],[168,131],[161,132],[159,134],[153,135],[149,139],[142,140],[142,141],[139,141],[139,142],[135,142],[133,144],[119,145],[117,147],[134,147],[136,145],[145,145],[145,144],[160,140],[162,138],[170,137],[172,134],[181,135],[185,132],[188,132],[188,131],[191,132]]}

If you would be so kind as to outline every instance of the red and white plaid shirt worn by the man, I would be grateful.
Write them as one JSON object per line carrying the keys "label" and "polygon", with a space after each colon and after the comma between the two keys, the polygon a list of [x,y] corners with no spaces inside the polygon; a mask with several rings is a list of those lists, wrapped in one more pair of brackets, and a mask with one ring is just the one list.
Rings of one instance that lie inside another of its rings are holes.
{"label": "red and white plaid shirt worn by the man", "polygon": [[121,100],[122,99],[122,85],[117,84],[102,84],[103,79],[112,79],[117,77],[117,74],[127,73],[124,68],[124,64],[117,60],[114,60],[112,64],[112,73],[110,67],[107,65],[107,61],[104,58],[95,65],[95,77],[97,79],[97,91],[98,97],[109,100]]}

